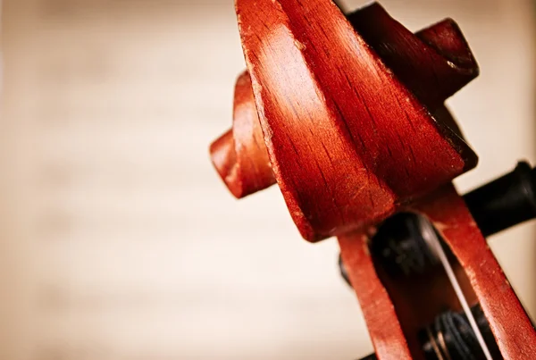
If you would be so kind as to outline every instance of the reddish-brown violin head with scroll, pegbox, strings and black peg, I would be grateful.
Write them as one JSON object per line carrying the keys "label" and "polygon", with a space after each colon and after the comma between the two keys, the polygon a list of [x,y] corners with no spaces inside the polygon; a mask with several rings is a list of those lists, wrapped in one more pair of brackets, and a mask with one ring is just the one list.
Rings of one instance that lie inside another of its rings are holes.
{"label": "reddish-brown violin head with scroll, pegbox, strings and black peg", "polygon": [[479,74],[455,21],[412,33],[380,4],[236,0],[247,64],[210,154],[230,192],[276,184],[302,237],[336,237],[375,354],[536,359],[485,237],[536,217],[536,171],[461,196],[478,157],[444,105]]}

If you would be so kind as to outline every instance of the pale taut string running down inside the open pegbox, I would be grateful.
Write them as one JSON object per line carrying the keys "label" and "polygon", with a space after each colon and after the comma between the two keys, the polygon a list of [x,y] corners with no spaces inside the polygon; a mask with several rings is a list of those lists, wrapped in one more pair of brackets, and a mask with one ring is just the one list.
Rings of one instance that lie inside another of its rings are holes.
{"label": "pale taut string running down inside the open pegbox", "polygon": [[456,297],[458,298],[462,308],[464,309],[464,313],[467,316],[467,320],[471,324],[471,327],[473,328],[474,335],[476,336],[476,339],[478,340],[482,348],[482,352],[484,353],[484,356],[486,357],[487,360],[493,360],[493,358],[491,357],[490,349],[486,345],[486,342],[484,341],[484,338],[482,337],[482,332],[480,331],[478,325],[476,324],[476,321],[474,320],[473,313],[471,312],[471,308],[469,307],[469,304],[467,304],[467,300],[465,299],[464,292],[462,291],[462,288],[460,287],[460,284],[456,278],[454,270],[452,269],[452,266],[450,266],[450,263],[448,262],[447,254],[445,254],[445,250],[443,250],[443,247],[441,246],[440,239],[438,238],[430,222],[428,222],[423,217],[419,217],[419,222],[423,230],[423,238],[427,240],[429,245],[432,247],[436,255],[439,257],[440,262],[443,265],[443,268],[445,269],[445,272],[447,272],[448,280],[450,280],[450,283],[452,284],[452,287],[454,291],[456,292]]}

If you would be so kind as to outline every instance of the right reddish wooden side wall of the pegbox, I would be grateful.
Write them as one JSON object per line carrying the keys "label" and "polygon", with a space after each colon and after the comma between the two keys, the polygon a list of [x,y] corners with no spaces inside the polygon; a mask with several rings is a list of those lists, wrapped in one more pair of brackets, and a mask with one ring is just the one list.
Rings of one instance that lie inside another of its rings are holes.
{"label": "right reddish wooden side wall of the pegbox", "polygon": [[505,359],[536,358],[536,331],[464,200],[453,186],[415,206],[439,230],[464,267]]}

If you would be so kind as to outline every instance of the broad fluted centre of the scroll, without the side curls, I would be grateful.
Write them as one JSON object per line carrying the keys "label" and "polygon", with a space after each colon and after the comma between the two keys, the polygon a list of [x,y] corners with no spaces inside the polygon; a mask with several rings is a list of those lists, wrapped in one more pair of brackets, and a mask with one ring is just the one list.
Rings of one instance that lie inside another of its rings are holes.
{"label": "broad fluted centre of the scroll, without the side curls", "polygon": [[239,0],[237,13],[272,170],[305,239],[378,222],[476,163],[330,1]]}

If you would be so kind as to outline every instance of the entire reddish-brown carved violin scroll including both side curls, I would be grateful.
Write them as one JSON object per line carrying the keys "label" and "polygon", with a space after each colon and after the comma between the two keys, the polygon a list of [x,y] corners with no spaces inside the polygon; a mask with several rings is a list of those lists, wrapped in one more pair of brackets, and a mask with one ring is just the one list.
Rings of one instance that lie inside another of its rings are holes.
{"label": "entire reddish-brown carved violin scroll including both side curls", "polygon": [[237,1],[247,72],[211,147],[230,191],[278,182],[305,239],[364,228],[473,168],[443,105],[478,74],[446,20],[415,35],[379,4]]}

